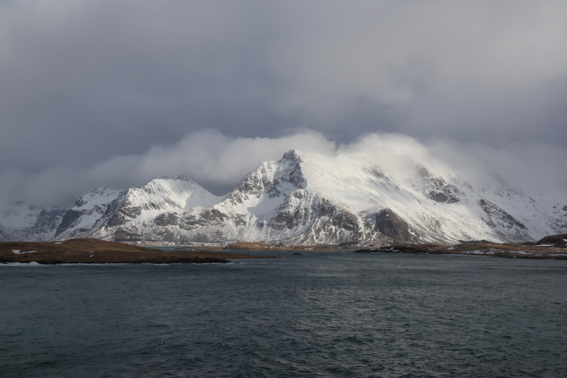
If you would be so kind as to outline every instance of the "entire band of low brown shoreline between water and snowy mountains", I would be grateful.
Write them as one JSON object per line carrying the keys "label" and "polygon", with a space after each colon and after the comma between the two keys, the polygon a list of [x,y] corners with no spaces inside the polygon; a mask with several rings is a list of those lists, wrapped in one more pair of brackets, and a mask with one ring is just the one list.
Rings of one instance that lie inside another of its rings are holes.
{"label": "entire band of low brown shoreline between water and snowy mountains", "polygon": [[[358,253],[416,253],[431,255],[479,255],[522,259],[567,260],[567,234],[550,235],[537,242],[490,243],[468,241],[455,245],[395,244],[376,248],[353,248],[349,245],[274,245],[269,243],[233,243],[222,246],[180,246],[173,250],[145,248],[140,245],[99,239],[71,239],[56,242],[1,242],[0,264],[37,262],[38,264],[104,264],[104,263],[224,263],[239,259],[274,259],[276,256],[249,255],[246,251],[288,251],[293,255],[308,252],[348,251]],[[222,248],[223,251],[214,252]],[[238,251],[235,253],[234,251]]]}

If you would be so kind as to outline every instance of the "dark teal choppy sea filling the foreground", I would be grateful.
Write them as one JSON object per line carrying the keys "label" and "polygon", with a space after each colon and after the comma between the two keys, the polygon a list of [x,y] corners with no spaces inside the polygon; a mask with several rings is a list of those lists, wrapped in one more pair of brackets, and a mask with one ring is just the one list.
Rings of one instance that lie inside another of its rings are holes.
{"label": "dark teal choppy sea filling the foreground", "polygon": [[567,262],[290,253],[1,266],[0,377],[567,377]]}

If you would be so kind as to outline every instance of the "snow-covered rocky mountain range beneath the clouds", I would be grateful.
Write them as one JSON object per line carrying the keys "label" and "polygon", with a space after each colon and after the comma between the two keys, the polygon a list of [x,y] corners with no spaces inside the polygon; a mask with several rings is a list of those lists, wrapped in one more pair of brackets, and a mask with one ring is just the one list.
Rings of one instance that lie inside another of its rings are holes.
{"label": "snow-covered rocky mountain range beneath the clouds", "polygon": [[[403,169],[388,169],[363,154],[327,157],[291,150],[259,165],[223,197],[182,176],[125,191],[97,188],[53,218],[59,221],[54,230],[33,235],[379,245],[537,240],[567,233],[566,199],[530,198],[505,185],[473,188],[449,167],[410,157]],[[4,223],[0,213],[4,240],[28,238]]]}

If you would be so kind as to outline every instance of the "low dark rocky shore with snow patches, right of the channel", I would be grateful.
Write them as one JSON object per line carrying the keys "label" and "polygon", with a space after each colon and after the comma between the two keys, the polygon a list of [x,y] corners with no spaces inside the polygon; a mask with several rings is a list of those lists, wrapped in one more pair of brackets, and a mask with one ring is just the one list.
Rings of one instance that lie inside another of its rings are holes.
{"label": "low dark rocky shore with snow patches, right of the channel", "polygon": [[567,260],[567,234],[550,235],[536,243],[490,243],[486,240],[456,245],[406,244],[355,250],[359,253],[396,252],[430,255],[480,255],[520,259]]}

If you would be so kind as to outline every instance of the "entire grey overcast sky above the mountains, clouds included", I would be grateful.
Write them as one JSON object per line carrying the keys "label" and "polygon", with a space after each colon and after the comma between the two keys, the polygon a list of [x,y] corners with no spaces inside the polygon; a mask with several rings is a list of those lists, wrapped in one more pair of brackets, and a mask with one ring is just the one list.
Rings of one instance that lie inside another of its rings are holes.
{"label": "entire grey overcast sky above the mountains, clouds included", "polygon": [[410,146],[564,194],[566,18],[565,1],[0,0],[0,204],[162,174],[220,195],[290,148]]}

